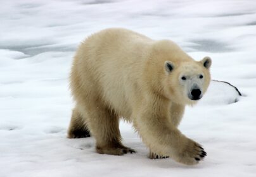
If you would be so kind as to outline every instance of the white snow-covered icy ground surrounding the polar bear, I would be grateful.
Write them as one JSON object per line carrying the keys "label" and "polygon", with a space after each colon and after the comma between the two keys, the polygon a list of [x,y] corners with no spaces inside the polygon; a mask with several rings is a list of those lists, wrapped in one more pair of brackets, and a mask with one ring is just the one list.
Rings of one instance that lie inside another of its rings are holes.
{"label": "white snow-covered icy ground surrounding the polar bear", "polygon": [[[212,58],[220,83],[188,107],[181,131],[208,153],[197,166],[150,160],[131,125],[136,154],[96,154],[93,138],[68,139],[68,73],[87,35],[124,27],[171,39]],[[238,102],[232,103],[237,99]],[[0,176],[256,176],[256,1],[0,1]]]}

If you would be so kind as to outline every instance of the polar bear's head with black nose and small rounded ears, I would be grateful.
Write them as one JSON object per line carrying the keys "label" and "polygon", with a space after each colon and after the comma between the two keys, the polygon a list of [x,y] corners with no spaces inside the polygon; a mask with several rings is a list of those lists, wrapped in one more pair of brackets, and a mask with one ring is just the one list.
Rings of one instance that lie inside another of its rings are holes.
{"label": "polar bear's head with black nose and small rounded ears", "polygon": [[[179,64],[165,61],[165,92],[177,104],[195,104],[202,99],[210,83],[209,57],[201,61],[184,61]],[[169,83],[169,84],[166,84]]]}

